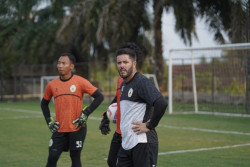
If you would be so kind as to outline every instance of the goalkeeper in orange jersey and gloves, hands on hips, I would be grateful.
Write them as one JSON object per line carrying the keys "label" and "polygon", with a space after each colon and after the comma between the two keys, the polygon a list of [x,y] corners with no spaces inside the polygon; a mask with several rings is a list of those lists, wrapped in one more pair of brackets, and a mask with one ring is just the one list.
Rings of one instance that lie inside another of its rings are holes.
{"label": "goalkeeper in orange jersey and gloves, hands on hips", "polygon": [[[63,151],[70,150],[72,167],[81,167],[81,150],[86,137],[88,116],[101,104],[103,95],[88,80],[74,75],[75,57],[63,53],[58,62],[59,77],[46,87],[41,108],[52,132],[49,142],[47,167],[56,167]],[[94,98],[83,107],[83,96],[87,93]],[[49,102],[54,97],[55,120],[50,115]]]}

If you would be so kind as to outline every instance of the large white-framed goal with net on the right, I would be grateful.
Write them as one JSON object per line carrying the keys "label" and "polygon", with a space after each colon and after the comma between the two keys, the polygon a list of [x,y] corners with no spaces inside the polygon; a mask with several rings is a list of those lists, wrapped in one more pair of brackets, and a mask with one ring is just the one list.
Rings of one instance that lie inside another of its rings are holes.
{"label": "large white-framed goal with net on the right", "polygon": [[169,51],[169,113],[249,114],[250,43]]}

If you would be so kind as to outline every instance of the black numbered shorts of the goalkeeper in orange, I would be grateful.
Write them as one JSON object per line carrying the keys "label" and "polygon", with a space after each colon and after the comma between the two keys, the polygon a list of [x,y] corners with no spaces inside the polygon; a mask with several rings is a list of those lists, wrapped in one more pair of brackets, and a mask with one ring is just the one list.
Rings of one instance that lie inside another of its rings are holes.
{"label": "black numbered shorts of the goalkeeper in orange", "polygon": [[49,149],[58,151],[82,150],[87,127],[76,132],[55,132],[49,142]]}

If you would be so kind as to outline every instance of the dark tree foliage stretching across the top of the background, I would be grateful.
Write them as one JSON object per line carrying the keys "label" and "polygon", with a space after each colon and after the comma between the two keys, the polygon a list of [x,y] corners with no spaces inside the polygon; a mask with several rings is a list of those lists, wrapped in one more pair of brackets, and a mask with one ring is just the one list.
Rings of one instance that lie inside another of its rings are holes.
{"label": "dark tree foliage stretching across the top of the background", "polygon": [[[249,1],[5,0],[0,9],[0,56],[8,67],[51,63],[62,52],[72,52],[78,62],[108,64],[119,44],[132,41],[143,50],[139,68],[144,60],[154,60],[161,85],[164,10],[173,9],[176,32],[187,45],[192,45],[193,36],[198,39],[196,17],[205,18],[216,41],[225,43],[225,32],[233,42],[245,42],[242,29],[248,23]],[[89,67],[82,70],[89,73]]]}

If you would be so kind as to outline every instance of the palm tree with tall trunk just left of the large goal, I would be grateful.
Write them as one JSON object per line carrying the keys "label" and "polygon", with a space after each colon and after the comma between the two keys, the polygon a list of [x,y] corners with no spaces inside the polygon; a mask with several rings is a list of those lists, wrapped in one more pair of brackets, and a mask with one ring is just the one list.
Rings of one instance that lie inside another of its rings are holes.
{"label": "palm tree with tall trunk just left of the large goal", "polygon": [[[141,41],[130,38],[131,30],[144,29],[148,31],[149,28],[154,30],[154,73],[157,76],[158,83],[160,88],[163,84],[164,76],[164,60],[162,56],[162,29],[161,29],[161,18],[164,9],[169,9],[172,5],[175,9],[175,15],[177,18],[176,30],[179,31],[181,37],[186,42],[187,40],[191,41],[191,33],[194,35],[194,13],[192,12],[192,2],[184,1],[169,1],[166,0],[153,0],[153,19],[150,18],[148,13],[148,5],[150,1],[140,0],[140,1],[116,1],[110,0],[103,10],[101,15],[99,28],[98,28],[98,38],[105,39],[109,41],[111,46],[114,46],[117,43],[133,40],[140,45]],[[183,13],[183,8],[186,8],[185,11],[188,13]],[[142,17],[147,16],[147,17]],[[188,19],[183,17],[189,17]],[[136,20],[137,19],[137,20]],[[111,21],[112,20],[112,21]],[[139,21],[138,21],[139,20]],[[144,27],[146,23],[146,28]],[[149,24],[151,23],[151,24]],[[150,27],[148,27],[150,26]],[[138,28],[135,28],[138,27]],[[138,32],[134,35],[138,36]],[[107,40],[108,39],[108,40]],[[141,48],[144,48],[142,45]],[[148,51],[151,53],[151,51]]]}

